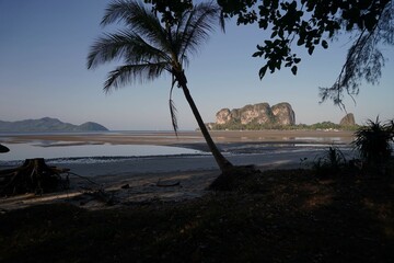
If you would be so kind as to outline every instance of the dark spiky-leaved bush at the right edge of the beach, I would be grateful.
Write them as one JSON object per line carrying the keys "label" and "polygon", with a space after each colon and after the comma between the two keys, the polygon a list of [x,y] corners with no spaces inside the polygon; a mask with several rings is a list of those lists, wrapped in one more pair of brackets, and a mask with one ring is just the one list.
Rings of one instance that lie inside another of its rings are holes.
{"label": "dark spiky-leaved bush at the right edge of the beach", "polygon": [[355,133],[354,147],[360,152],[368,165],[384,165],[391,158],[391,142],[394,138],[394,122],[382,124],[379,121],[368,119],[367,126],[360,127]]}

